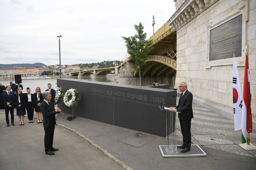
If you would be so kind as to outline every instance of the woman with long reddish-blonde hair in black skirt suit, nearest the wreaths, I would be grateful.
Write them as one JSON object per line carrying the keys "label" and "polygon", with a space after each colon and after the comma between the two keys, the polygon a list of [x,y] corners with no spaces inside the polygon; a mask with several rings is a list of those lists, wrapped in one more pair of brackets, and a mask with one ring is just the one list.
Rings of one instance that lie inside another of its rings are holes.
{"label": "woman with long reddish-blonde hair in black skirt suit, nearest the wreaths", "polygon": [[[42,123],[43,114],[40,110],[40,104],[44,101],[44,98],[43,98],[40,87],[36,87],[36,93],[34,93],[33,99],[34,99],[37,123]],[[39,122],[39,113],[40,113],[40,122]]]}

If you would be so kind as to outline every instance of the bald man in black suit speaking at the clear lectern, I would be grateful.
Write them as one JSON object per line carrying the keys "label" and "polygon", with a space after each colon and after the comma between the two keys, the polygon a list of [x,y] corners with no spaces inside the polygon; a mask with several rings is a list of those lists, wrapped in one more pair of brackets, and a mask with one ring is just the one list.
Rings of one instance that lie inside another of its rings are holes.
{"label": "bald man in black suit speaking at the clear lectern", "polygon": [[169,110],[180,112],[178,114],[180,128],[183,136],[183,144],[181,146],[177,146],[177,148],[183,149],[181,152],[185,153],[190,150],[191,146],[191,119],[193,117],[192,110],[192,101],[193,95],[187,89],[188,85],[185,82],[181,82],[179,84],[179,90],[182,92],[180,94],[179,102],[176,107],[170,107]]}

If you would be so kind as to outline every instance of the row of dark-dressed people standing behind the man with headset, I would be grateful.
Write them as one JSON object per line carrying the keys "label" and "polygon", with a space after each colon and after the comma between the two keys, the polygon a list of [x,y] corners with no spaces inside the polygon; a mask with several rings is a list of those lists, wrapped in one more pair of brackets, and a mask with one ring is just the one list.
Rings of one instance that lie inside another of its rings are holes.
{"label": "row of dark-dressed people standing behind the man with headset", "polygon": [[[10,91],[12,89],[12,91]],[[35,93],[31,93],[31,89],[27,87],[27,94],[22,93],[23,86],[21,84],[13,84],[10,82],[9,86],[3,86],[0,83],[0,94],[3,94],[4,107],[5,107],[5,119],[7,127],[9,126],[9,112],[11,114],[11,123],[14,126],[14,106],[16,106],[17,116],[19,117],[19,125],[24,125],[24,117],[27,110],[28,123],[33,122],[34,109],[36,112],[37,123],[42,123],[42,112],[40,110],[40,105],[44,101],[42,96],[41,88],[36,87]],[[48,83],[48,89],[45,91],[50,91],[51,103],[54,106],[55,90],[51,88],[51,84]]]}

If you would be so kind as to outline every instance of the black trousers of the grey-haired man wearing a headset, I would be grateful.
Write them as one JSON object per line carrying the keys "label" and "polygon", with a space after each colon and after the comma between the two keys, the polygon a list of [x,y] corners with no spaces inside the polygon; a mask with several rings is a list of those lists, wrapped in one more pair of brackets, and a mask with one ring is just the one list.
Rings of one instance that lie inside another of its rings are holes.
{"label": "black trousers of the grey-haired man wearing a headset", "polygon": [[52,144],[53,144],[54,129],[55,129],[55,124],[52,124],[50,127],[44,128],[44,130],[45,130],[45,138],[44,138],[45,152],[51,151]]}

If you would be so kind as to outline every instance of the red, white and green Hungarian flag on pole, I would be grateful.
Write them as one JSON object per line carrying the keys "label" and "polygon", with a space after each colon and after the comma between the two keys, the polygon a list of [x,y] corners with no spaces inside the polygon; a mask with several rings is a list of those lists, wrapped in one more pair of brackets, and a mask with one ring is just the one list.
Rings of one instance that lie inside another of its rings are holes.
{"label": "red, white and green Hungarian flag on pole", "polygon": [[249,71],[248,56],[245,58],[244,79],[243,79],[243,106],[242,106],[242,143],[247,142],[247,133],[252,132],[251,112],[251,80]]}

